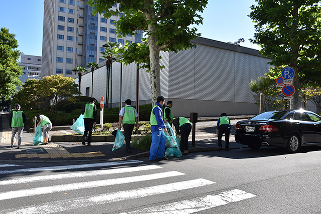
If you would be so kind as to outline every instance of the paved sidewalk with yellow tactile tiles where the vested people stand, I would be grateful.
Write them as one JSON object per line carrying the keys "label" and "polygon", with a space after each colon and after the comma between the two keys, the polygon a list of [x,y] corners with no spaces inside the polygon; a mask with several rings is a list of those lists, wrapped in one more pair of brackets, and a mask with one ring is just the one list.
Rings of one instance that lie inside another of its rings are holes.
{"label": "paved sidewalk with yellow tactile tiles where the vested people stand", "polygon": [[[149,152],[142,152],[131,147],[131,153],[126,153],[125,146],[112,151],[113,142],[95,142],[91,146],[84,146],[81,142],[50,142],[47,145],[33,145],[34,133],[23,131],[21,148],[11,148],[11,130],[9,129],[9,113],[0,112],[2,132],[0,132],[0,161],[2,162],[83,162],[83,161],[110,161],[128,158],[148,157]],[[229,116],[231,120],[241,120],[251,116]],[[189,153],[214,151],[218,149],[216,137],[216,121],[219,117],[198,118],[196,123],[196,142],[192,147],[192,132],[189,138]],[[0,130],[1,131],[1,130]],[[247,147],[236,143],[233,133],[235,124],[232,123],[230,135],[230,149]],[[50,131],[52,135],[66,135],[75,133],[73,130]],[[224,136],[222,138],[224,142]],[[224,144],[223,144],[224,145]],[[225,152],[225,151],[224,151]],[[171,158],[171,157],[170,157]]]}

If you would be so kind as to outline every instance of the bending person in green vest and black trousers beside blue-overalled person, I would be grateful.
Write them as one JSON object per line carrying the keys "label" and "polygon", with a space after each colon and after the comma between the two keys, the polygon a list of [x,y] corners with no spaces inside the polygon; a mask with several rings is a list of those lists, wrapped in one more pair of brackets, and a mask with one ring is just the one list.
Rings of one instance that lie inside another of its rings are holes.
{"label": "bending person in green vest and black trousers beside blue-overalled person", "polygon": [[187,155],[189,149],[189,136],[192,130],[191,122],[185,117],[174,119],[174,127],[177,132],[177,137],[181,135],[180,149],[182,155]]}

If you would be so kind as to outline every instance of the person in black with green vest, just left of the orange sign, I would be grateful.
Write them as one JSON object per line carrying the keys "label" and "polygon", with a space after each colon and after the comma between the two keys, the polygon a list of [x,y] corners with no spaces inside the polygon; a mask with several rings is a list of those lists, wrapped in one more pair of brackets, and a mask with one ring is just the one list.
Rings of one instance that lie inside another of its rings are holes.
{"label": "person in black with green vest, just left of the orange sign", "polygon": [[96,119],[97,119],[97,107],[95,106],[96,99],[90,98],[89,103],[86,103],[84,107],[82,108],[81,114],[84,115],[84,125],[85,125],[85,131],[84,136],[82,139],[82,144],[86,145],[86,138],[88,133],[88,139],[87,139],[87,145],[90,146],[91,143],[91,137],[92,137],[92,131],[94,129],[94,126],[96,125]]}

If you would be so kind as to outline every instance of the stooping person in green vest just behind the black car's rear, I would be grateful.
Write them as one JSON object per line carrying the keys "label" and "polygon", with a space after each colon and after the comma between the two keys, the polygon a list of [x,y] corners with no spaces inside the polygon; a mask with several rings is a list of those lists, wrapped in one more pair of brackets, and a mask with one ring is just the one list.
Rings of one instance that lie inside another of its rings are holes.
{"label": "stooping person in green vest just behind the black car's rear", "polygon": [[222,136],[225,133],[225,150],[229,150],[229,140],[230,140],[230,130],[231,130],[231,121],[227,117],[226,113],[222,113],[221,117],[217,121],[216,130],[218,130],[218,143],[219,150],[222,149]]}

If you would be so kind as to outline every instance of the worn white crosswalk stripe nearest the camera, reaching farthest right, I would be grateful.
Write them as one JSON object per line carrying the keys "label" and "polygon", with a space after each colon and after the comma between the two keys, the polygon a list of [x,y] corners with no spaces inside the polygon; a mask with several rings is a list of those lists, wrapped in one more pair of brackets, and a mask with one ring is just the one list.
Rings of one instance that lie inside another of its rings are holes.
{"label": "worn white crosswalk stripe nearest the camera, reaching farthest right", "polygon": [[233,189],[217,195],[207,195],[205,197],[197,197],[189,200],[182,200],[174,203],[144,208],[141,210],[123,212],[120,214],[188,214],[225,205],[231,202],[245,200],[255,196],[256,195],[254,194],[239,189]]}

